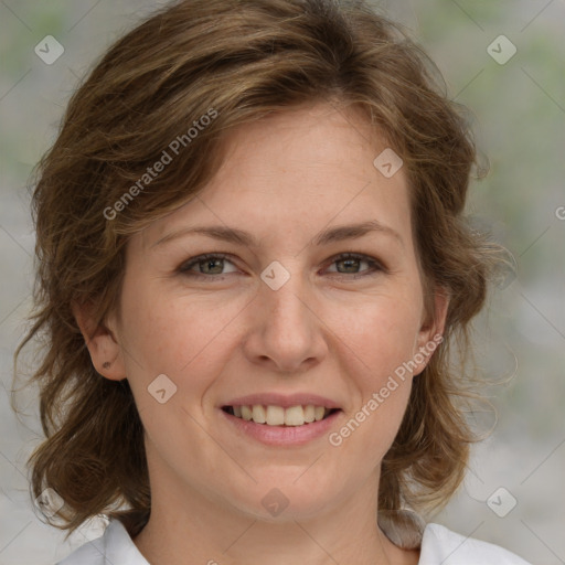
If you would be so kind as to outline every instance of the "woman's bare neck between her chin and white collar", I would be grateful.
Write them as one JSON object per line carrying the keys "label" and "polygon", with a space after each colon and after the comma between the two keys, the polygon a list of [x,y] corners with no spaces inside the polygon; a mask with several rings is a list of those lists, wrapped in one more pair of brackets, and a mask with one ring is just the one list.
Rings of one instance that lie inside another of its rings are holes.
{"label": "woman's bare neck between her chin and white collar", "polygon": [[417,564],[418,552],[399,550],[379,530],[373,481],[313,515],[284,512],[273,521],[185,484],[182,497],[171,482],[152,484],[151,516],[134,542],[152,565]]}

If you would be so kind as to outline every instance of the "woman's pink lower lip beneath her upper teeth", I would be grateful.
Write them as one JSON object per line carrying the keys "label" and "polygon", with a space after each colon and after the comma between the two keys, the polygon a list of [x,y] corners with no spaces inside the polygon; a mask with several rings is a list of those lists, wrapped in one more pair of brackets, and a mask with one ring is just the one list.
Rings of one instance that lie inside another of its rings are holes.
{"label": "woman's pink lower lip beneath her upper teeth", "polygon": [[269,426],[232,416],[221,408],[220,412],[239,433],[269,446],[300,446],[308,444],[326,435],[334,425],[335,419],[342,414],[342,411],[337,411],[324,419],[302,426]]}

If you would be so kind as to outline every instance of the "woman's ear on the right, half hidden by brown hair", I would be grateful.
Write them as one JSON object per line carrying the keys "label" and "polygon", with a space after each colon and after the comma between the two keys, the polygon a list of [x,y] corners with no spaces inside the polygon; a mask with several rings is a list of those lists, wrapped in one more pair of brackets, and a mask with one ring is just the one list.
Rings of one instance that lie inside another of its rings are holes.
{"label": "woman's ear on the right, half hidden by brown hair", "polygon": [[414,348],[413,360],[416,369],[413,376],[416,376],[426,369],[434,351],[444,341],[444,329],[446,326],[447,311],[450,296],[445,288],[438,288],[434,295],[434,312],[427,316],[424,312],[422,327],[418,331]]}

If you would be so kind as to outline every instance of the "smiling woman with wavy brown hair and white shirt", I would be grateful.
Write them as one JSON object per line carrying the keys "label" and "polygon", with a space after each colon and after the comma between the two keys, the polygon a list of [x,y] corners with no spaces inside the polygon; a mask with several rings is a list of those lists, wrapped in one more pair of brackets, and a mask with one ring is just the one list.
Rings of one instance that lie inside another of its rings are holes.
{"label": "smiling woman with wavy brown hair and white shirt", "polygon": [[34,497],[110,519],[64,565],[525,563],[420,518],[463,477],[497,252],[431,68],[360,2],[184,0],[73,96],[21,345]]}

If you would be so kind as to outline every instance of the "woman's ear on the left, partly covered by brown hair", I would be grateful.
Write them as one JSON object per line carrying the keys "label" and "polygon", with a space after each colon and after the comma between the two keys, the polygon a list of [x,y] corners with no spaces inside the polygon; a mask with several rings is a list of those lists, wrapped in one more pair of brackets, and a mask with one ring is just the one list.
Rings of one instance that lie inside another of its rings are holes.
{"label": "woman's ear on the left, partly covered by brown hair", "polygon": [[90,303],[73,302],[71,308],[96,371],[110,381],[126,379],[121,348],[116,339],[115,322],[109,320],[107,324],[96,326]]}

